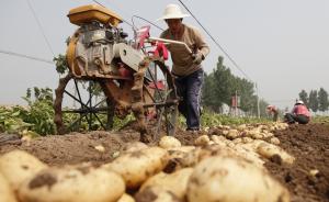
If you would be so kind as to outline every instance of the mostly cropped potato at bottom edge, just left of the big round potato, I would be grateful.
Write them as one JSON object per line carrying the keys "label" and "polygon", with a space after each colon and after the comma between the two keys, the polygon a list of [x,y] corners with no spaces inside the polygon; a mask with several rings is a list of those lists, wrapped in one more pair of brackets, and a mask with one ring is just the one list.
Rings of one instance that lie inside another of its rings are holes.
{"label": "mostly cropped potato at bottom edge, just left of the big round potato", "polygon": [[136,202],[182,202],[171,191],[161,187],[148,187],[135,197]]}

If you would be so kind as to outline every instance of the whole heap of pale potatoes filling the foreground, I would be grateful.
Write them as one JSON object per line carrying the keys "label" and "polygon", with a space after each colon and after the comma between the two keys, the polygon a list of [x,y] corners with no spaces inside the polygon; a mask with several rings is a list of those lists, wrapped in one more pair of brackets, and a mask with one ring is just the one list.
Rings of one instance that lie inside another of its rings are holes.
{"label": "whole heap of pale potatoes filling the foreground", "polygon": [[49,167],[13,150],[0,156],[0,202],[288,202],[288,191],[262,167],[284,152],[249,136],[234,142],[246,127],[200,136],[194,146],[171,136],[159,146],[129,143],[100,167]]}

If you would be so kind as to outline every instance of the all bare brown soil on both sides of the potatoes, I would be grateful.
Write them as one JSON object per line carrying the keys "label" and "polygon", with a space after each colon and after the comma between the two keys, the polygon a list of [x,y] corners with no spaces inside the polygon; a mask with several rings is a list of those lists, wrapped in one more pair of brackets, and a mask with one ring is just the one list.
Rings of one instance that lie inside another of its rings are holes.
{"label": "all bare brown soil on both sides of the potatoes", "polygon": [[[183,145],[192,145],[200,135],[202,133],[178,131],[175,137]],[[275,136],[281,141],[280,146],[296,160],[287,166],[273,158],[265,162],[265,167],[290,190],[292,202],[329,202],[329,126],[316,123],[291,125],[285,131],[276,131]],[[139,138],[139,133],[133,130],[70,133],[32,141],[13,136],[5,142],[0,139],[0,154],[19,148],[50,166],[79,162],[98,166],[110,162],[127,143]],[[104,152],[98,150],[98,146],[102,146]]]}

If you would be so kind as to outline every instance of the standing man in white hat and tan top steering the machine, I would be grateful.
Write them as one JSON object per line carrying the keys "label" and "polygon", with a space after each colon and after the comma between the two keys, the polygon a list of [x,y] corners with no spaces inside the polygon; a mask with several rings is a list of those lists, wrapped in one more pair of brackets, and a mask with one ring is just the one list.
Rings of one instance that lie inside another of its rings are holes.
{"label": "standing man in white hat and tan top steering the machine", "polygon": [[168,29],[160,35],[161,38],[185,43],[184,45],[167,45],[173,63],[172,74],[178,96],[182,98],[179,111],[185,116],[188,131],[200,130],[200,96],[203,83],[202,61],[209,53],[209,46],[204,41],[200,31],[183,23],[183,18],[189,16],[181,11],[178,4],[168,4],[163,15]]}

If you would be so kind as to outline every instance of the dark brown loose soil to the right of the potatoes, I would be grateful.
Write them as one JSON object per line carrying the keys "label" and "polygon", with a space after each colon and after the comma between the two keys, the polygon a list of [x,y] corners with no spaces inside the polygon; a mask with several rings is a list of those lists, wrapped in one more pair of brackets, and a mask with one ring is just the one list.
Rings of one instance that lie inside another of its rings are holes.
{"label": "dark brown loose soil to the right of the potatoes", "polygon": [[329,125],[291,125],[275,136],[281,141],[280,146],[296,160],[292,166],[280,165],[280,161],[269,161],[265,166],[288,188],[292,201],[329,201]]}

